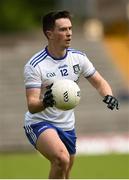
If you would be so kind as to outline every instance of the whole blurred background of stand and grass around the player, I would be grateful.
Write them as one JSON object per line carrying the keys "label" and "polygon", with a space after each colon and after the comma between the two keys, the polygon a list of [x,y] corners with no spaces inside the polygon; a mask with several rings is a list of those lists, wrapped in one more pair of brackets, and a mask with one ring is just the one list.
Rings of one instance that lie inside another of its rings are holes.
{"label": "whole blurred background of stand and grass around the player", "polygon": [[47,178],[48,162],[23,130],[23,69],[47,43],[41,17],[52,10],[73,14],[72,47],[87,54],[120,102],[119,111],[110,111],[80,80],[72,178],[129,178],[129,0],[0,1],[0,178]]}

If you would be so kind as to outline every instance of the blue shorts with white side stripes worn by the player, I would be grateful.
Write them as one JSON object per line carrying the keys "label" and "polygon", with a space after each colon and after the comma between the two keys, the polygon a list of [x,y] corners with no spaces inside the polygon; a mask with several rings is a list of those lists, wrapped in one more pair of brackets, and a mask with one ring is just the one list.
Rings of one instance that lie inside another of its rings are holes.
{"label": "blue shorts with white side stripes worn by the player", "polygon": [[63,131],[61,128],[58,128],[49,122],[39,122],[36,124],[24,126],[25,133],[27,138],[29,139],[30,143],[36,148],[36,142],[39,137],[39,135],[44,132],[46,129],[55,129],[58,133],[60,139],[66,146],[69,154],[75,154],[76,153],[76,133],[75,129],[70,131]]}

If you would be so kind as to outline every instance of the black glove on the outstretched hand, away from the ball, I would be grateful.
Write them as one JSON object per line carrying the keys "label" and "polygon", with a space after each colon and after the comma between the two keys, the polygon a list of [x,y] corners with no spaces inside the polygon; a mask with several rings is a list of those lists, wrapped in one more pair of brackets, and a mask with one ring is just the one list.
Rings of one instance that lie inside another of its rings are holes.
{"label": "black glove on the outstretched hand, away from the ball", "polygon": [[113,110],[114,108],[116,108],[117,110],[119,109],[119,103],[118,100],[111,96],[111,95],[107,95],[104,97],[103,102],[105,102],[107,105],[107,107],[111,110]]}

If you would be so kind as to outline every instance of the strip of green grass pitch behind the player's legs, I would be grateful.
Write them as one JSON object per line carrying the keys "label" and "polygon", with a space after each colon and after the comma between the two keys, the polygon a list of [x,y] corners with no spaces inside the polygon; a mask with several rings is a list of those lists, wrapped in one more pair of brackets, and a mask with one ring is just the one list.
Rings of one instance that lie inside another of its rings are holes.
{"label": "strip of green grass pitch behind the player's legs", "polygon": [[[0,154],[0,179],[47,179],[49,162],[38,153]],[[129,154],[77,156],[72,179],[128,179]]]}

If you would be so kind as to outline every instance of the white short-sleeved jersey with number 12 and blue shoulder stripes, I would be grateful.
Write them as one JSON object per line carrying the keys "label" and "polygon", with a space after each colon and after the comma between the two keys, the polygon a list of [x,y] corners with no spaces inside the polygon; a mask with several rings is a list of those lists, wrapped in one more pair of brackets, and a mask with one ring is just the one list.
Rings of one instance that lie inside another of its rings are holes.
{"label": "white short-sleeved jersey with number 12 and blue shoulder stripes", "polygon": [[[92,76],[95,68],[87,56],[75,49],[68,48],[64,57],[55,59],[47,48],[35,54],[25,65],[26,88],[46,88],[54,80],[70,79],[78,82],[80,75]],[[64,131],[72,130],[75,124],[74,110],[63,111],[56,107],[31,114],[25,114],[25,125],[48,121]]]}

